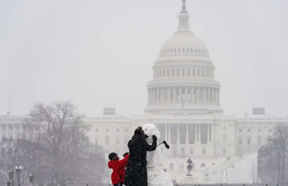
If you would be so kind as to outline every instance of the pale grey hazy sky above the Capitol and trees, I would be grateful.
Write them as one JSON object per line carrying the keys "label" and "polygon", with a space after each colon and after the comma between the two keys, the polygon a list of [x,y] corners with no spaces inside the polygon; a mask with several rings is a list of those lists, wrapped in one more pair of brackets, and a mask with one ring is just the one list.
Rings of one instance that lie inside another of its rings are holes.
{"label": "pale grey hazy sky above the Capitol and trees", "polygon": [[[224,114],[265,107],[288,117],[288,0],[187,0],[207,45]],[[161,45],[181,0],[0,0],[0,112],[72,100],[86,116],[146,106]]]}

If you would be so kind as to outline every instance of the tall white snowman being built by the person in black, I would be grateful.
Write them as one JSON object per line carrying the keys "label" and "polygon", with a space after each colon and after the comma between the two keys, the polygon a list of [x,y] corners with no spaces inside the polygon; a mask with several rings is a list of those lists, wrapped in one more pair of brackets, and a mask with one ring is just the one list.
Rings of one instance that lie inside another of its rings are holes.
{"label": "tall white snowman being built by the person in black", "polygon": [[[144,130],[144,133],[149,136],[146,139],[149,145],[151,145],[153,141],[152,135],[155,135],[157,139],[160,138],[160,132],[155,124],[144,124],[142,129]],[[160,168],[160,164],[163,160],[163,154],[159,147],[157,147],[154,151],[148,151],[146,160],[148,186],[173,186],[169,175]]]}

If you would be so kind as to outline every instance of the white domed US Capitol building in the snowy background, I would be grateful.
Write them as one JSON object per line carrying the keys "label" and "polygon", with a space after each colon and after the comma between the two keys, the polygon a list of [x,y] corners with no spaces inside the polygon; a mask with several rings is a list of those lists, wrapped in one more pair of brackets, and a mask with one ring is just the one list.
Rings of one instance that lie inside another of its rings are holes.
{"label": "white domed US Capitol building in the snowy background", "polygon": [[[222,114],[215,66],[206,45],[190,30],[189,17],[183,0],[178,30],[161,47],[153,79],[147,83],[144,115],[126,118],[115,108],[104,108],[102,116],[85,119],[89,139],[107,154],[123,154],[135,128],[153,123],[161,132],[157,142],[166,140],[170,145],[170,149],[158,148],[164,155],[161,167],[174,183],[260,182],[257,151],[273,134],[273,127],[288,120],[266,115],[264,108],[254,108],[245,118]],[[14,120],[8,125],[9,117],[0,117],[1,138],[20,132]],[[189,157],[193,176],[186,176]]]}

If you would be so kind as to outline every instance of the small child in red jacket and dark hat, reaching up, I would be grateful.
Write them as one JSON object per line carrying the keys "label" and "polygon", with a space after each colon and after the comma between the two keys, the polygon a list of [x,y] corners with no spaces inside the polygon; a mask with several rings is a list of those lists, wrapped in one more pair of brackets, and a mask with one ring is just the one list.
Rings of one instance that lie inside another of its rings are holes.
{"label": "small child in red jacket and dark hat, reaching up", "polygon": [[108,167],[113,170],[111,174],[112,185],[123,186],[125,177],[125,168],[129,160],[129,154],[126,155],[122,160],[119,160],[119,157],[115,152],[110,153],[108,157],[110,160],[108,162]]}

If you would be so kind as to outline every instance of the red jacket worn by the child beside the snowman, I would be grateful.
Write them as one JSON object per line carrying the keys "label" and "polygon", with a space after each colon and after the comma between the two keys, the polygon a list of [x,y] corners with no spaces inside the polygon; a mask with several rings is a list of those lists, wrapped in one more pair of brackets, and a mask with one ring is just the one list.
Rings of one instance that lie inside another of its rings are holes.
{"label": "red jacket worn by the child beside the snowman", "polygon": [[125,167],[129,160],[129,154],[122,160],[112,160],[108,162],[108,167],[113,170],[111,174],[112,185],[124,183]]}

